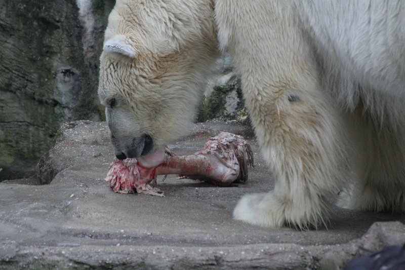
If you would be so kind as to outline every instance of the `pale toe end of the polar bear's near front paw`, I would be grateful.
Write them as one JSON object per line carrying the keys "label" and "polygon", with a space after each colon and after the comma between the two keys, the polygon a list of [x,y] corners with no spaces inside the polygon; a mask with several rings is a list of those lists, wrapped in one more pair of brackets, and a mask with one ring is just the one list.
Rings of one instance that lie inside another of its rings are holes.
{"label": "pale toe end of the polar bear's near front paw", "polygon": [[270,194],[245,195],[233,210],[233,218],[264,227],[281,227],[286,222],[282,207]]}

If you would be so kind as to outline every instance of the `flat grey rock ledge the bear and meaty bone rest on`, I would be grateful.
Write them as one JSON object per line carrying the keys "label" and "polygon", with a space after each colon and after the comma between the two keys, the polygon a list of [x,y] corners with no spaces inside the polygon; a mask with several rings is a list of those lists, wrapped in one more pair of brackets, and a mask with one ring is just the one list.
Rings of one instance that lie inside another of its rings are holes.
{"label": "flat grey rock ledge the bear and meaty bone rest on", "polygon": [[[350,259],[405,242],[405,215],[333,208],[328,228],[262,228],[232,219],[237,200],[272,188],[249,126],[210,121],[170,148],[186,155],[228,131],[252,145],[246,183],[216,187],[170,175],[166,197],[114,194],[104,182],[113,161],[104,122],[63,125],[34,179],[0,183],[0,269],[339,269]],[[52,172],[49,172],[52,171]]]}

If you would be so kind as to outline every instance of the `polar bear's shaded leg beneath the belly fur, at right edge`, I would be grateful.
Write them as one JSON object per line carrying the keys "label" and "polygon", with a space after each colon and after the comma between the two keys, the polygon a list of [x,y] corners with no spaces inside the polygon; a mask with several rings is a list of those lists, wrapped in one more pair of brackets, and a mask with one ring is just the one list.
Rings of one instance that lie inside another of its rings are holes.
{"label": "polar bear's shaded leg beneath the belly fur, at right edge", "polygon": [[357,146],[356,181],[341,192],[341,207],[405,212],[405,116],[389,111],[396,107],[395,102],[391,103],[385,109],[390,114],[383,121],[381,116],[372,117],[370,109],[357,108],[351,115],[350,126]]}

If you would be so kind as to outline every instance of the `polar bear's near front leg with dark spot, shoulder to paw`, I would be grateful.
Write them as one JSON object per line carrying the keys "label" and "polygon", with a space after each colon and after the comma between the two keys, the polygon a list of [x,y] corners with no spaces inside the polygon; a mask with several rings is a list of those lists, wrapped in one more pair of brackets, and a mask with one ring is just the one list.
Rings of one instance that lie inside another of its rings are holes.
{"label": "polar bear's near front leg with dark spot, shoulder to paw", "polygon": [[290,1],[215,2],[220,47],[241,75],[275,178],[274,190],[243,197],[233,214],[268,227],[325,223],[327,197],[337,196],[349,179],[345,126],[330,91],[322,89],[319,55],[300,10]]}

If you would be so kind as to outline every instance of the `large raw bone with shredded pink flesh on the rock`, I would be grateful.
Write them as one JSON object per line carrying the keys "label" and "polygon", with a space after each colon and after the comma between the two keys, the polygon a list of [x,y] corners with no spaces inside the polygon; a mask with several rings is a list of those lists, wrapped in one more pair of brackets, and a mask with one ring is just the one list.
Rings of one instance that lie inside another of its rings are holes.
{"label": "large raw bone with shredded pink flesh on the rock", "polygon": [[[114,161],[106,181],[114,192],[164,196],[154,188],[157,175],[177,174],[215,185],[228,186],[248,179],[248,165],[253,166],[250,145],[235,134],[221,132],[207,140],[204,150],[189,156],[175,156],[169,149],[138,159]],[[152,183],[152,186],[149,185]]]}

